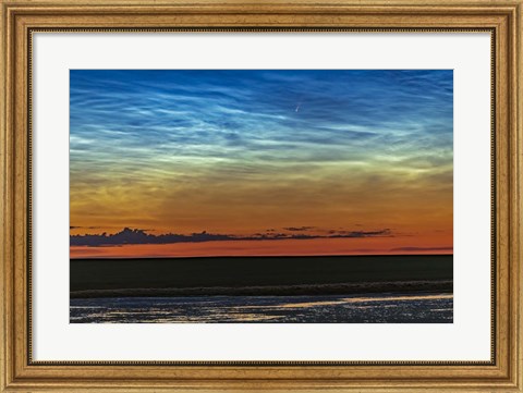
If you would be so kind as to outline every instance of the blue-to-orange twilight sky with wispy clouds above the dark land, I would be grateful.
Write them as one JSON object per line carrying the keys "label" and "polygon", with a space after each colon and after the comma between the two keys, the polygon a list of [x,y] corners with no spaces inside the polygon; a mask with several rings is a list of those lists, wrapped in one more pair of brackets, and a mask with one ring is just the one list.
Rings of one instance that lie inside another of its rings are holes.
{"label": "blue-to-orange twilight sky with wispy clouds above the dark land", "polygon": [[71,257],[452,254],[451,70],[71,70]]}

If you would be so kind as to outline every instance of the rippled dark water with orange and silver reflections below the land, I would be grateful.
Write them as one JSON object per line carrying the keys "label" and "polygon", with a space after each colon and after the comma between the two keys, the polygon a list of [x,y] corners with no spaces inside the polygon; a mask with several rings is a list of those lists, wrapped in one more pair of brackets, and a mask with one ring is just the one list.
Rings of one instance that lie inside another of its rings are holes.
{"label": "rippled dark water with orange and silver reflections below the land", "polygon": [[452,294],[73,298],[72,323],[452,323]]}

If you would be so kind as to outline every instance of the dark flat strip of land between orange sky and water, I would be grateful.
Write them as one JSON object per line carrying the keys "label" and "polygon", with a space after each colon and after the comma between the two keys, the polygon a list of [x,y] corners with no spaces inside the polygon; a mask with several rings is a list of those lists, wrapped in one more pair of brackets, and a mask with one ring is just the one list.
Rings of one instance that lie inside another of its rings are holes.
{"label": "dark flat strip of land between orange sky and water", "polygon": [[71,259],[71,297],[452,293],[452,255]]}

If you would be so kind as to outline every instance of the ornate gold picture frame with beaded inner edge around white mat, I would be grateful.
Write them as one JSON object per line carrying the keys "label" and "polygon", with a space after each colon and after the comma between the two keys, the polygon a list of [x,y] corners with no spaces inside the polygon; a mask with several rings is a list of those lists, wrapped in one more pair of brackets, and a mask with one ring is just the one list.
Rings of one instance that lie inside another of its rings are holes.
{"label": "ornate gold picture frame with beaded inner edge around white mat", "polygon": [[[3,249],[0,391],[523,392],[520,180],[522,0],[0,0]],[[31,356],[31,44],[86,29],[486,30],[492,35],[491,361],[38,363]]]}

